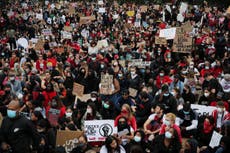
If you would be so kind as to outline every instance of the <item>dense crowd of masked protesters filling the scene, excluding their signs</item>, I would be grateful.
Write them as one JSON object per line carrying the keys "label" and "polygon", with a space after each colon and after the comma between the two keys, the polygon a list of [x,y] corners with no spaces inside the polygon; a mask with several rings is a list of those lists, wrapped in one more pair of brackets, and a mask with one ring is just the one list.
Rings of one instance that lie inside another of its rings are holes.
{"label": "dense crowd of masked protesters filling the scene, excluding their signs", "polygon": [[[85,121],[105,119],[114,120],[117,131],[126,134],[104,142],[88,142],[82,135],[71,153],[230,152],[228,6],[205,1],[189,5],[179,22],[180,4],[168,4],[169,11],[166,4],[148,3],[144,12],[140,5],[114,1],[5,4],[0,10],[0,152],[65,152],[56,147],[57,130],[84,131]],[[98,12],[100,7],[105,13]],[[132,10],[134,15],[128,16]],[[81,23],[82,16],[93,15],[94,20]],[[155,44],[161,29],[185,22],[193,29],[189,53],[173,50],[173,40]],[[73,29],[71,39],[63,38],[66,27]],[[44,36],[43,29],[51,29],[52,35]],[[44,44],[24,48],[19,38]],[[97,47],[101,40],[108,46]],[[134,59],[150,65],[129,65]],[[113,76],[112,88],[101,94],[101,76],[106,74]],[[74,83],[84,86],[88,100],[73,95]],[[199,114],[193,104],[215,109]],[[54,111],[56,122],[49,117]],[[214,131],[222,138],[211,148]]]}

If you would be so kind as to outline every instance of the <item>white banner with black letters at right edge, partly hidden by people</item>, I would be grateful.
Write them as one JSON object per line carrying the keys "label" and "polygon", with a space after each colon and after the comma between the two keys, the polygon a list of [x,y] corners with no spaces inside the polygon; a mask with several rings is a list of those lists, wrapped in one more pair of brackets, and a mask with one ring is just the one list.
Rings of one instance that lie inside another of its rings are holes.
{"label": "white banner with black letters at right edge, partly hidden by people", "polygon": [[198,104],[191,104],[191,108],[193,110],[196,110],[196,112],[200,115],[211,115],[212,112],[216,109],[216,107],[213,106],[204,106],[204,105],[198,105]]}

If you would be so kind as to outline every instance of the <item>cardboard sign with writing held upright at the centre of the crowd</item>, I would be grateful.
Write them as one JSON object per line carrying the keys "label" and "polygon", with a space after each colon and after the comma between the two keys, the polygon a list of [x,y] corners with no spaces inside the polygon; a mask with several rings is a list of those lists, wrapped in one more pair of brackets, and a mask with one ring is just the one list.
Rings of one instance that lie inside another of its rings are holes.
{"label": "cardboard sign with writing held upright at the centre of the crowd", "polygon": [[113,75],[101,75],[100,94],[111,95],[113,90]]}

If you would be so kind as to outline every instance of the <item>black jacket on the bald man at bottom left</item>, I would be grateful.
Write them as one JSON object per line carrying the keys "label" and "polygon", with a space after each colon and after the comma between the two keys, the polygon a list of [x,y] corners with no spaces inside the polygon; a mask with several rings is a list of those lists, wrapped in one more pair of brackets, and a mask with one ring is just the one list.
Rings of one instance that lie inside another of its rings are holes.
{"label": "black jacket on the bald man at bottom left", "polygon": [[30,146],[36,149],[40,142],[33,123],[25,117],[19,116],[15,119],[5,117],[0,129],[0,142],[11,146],[14,153],[30,153]]}

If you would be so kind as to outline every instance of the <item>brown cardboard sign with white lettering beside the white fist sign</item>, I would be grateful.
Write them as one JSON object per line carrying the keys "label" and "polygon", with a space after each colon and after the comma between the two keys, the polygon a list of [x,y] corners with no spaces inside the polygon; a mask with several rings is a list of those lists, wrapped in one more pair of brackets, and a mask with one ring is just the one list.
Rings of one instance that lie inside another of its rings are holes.
{"label": "brown cardboard sign with white lettering beside the white fist sign", "polygon": [[83,131],[57,131],[56,146],[63,146],[67,153],[79,143],[78,139],[83,135]]}

